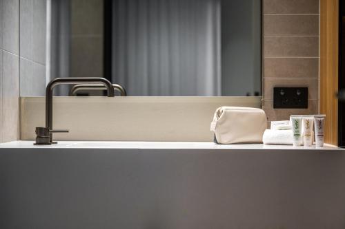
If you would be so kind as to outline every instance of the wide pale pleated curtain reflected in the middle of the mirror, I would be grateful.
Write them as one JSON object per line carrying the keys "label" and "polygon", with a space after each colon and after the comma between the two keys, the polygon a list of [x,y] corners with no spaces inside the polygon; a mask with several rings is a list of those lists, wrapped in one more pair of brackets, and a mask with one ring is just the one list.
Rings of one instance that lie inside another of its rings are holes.
{"label": "wide pale pleated curtain reflected in the middle of the mirror", "polygon": [[112,82],[130,96],[220,96],[220,0],[115,0]]}

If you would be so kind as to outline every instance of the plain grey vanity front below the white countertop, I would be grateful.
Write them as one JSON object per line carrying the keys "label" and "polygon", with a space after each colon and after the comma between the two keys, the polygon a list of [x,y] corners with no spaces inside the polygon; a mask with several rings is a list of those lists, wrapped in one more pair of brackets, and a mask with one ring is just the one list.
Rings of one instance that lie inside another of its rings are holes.
{"label": "plain grey vanity front below the white countertop", "polygon": [[0,149],[0,228],[345,228],[339,151]]}

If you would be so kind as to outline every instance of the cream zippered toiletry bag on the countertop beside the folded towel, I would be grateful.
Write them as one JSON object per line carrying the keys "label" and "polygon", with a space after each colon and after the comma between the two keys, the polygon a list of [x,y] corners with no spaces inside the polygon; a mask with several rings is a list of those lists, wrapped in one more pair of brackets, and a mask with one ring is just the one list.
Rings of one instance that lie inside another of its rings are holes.
{"label": "cream zippered toiletry bag on the countertop beside the folded towel", "polygon": [[219,107],[210,129],[218,144],[262,143],[266,113],[251,107]]}

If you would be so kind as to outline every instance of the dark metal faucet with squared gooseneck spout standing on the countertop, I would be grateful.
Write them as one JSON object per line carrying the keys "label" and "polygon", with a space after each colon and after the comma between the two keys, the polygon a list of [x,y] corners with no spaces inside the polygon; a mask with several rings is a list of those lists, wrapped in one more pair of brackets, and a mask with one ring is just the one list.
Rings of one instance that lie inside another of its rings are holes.
{"label": "dark metal faucet with squared gooseneck spout standing on the countertop", "polygon": [[75,85],[75,84],[95,84],[104,85],[108,91],[108,97],[114,97],[114,87],[106,78],[55,78],[48,83],[46,87],[46,127],[36,127],[36,145],[53,144],[52,133],[67,133],[68,130],[52,129],[52,90],[57,85]]}

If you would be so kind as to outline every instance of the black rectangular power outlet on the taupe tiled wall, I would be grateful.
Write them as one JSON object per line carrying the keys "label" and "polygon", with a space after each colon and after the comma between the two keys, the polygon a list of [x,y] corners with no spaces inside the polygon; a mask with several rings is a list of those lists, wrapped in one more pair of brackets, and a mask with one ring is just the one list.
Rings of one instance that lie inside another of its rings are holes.
{"label": "black rectangular power outlet on the taupe tiled wall", "polygon": [[308,108],[308,87],[275,87],[273,108]]}

